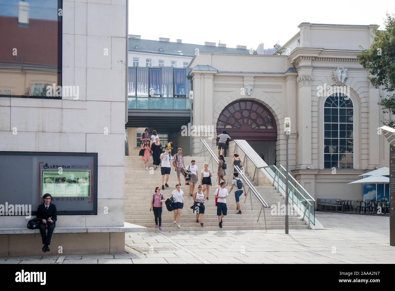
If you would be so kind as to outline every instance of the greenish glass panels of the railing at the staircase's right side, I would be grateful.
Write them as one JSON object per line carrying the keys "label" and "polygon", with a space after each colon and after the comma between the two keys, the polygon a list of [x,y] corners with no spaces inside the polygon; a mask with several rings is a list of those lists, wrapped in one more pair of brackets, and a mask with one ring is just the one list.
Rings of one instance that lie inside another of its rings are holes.
{"label": "greenish glass panels of the railing at the staircase's right side", "polygon": [[[286,169],[284,169],[282,165],[271,165],[264,169],[275,180],[274,184],[278,183],[278,187],[285,192]],[[292,203],[295,204],[302,213],[305,213],[305,216],[309,217],[310,222],[315,225],[314,199],[291,175],[289,175],[288,183],[288,198],[291,199]]]}

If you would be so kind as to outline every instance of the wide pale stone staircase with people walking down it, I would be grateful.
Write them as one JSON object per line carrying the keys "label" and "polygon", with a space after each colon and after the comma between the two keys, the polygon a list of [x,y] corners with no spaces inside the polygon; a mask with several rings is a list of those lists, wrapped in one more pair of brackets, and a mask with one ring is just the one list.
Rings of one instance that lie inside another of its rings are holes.
{"label": "wide pale stone staircase with people walking down it", "polygon": [[[215,151],[214,151],[215,153]],[[208,162],[209,159],[199,156],[184,156],[185,165],[188,165],[190,160],[196,160],[196,165],[198,166],[198,179],[199,182],[195,187],[200,184],[200,172],[204,168],[203,165]],[[225,158],[228,164],[228,169],[226,170],[225,179],[228,181],[228,190],[231,186],[231,181],[233,179],[233,168],[231,167],[231,158]],[[152,159],[150,160],[152,163]],[[138,224],[148,228],[148,231],[159,231],[155,228],[154,214],[150,210],[150,199],[156,186],[162,186],[160,168],[156,170],[147,171],[143,167],[143,160],[139,156],[125,156],[125,221],[128,223]],[[152,164],[149,164],[152,167]],[[214,165],[215,167],[215,165]],[[209,168],[211,169],[211,163]],[[212,186],[210,189],[209,201],[205,202],[205,215],[204,215],[204,227],[201,227],[199,223],[196,223],[195,214],[193,213],[190,206],[193,204],[192,197],[189,196],[189,186],[185,185],[183,178],[181,177],[181,189],[184,192],[184,208],[182,209],[180,226],[173,224],[173,211],[169,212],[164,207],[162,213],[162,231],[189,231],[189,230],[220,230],[218,226],[218,217],[216,216],[216,206],[214,192],[217,189],[218,181],[216,181],[217,170],[211,169],[213,172]],[[277,192],[274,186],[265,181],[256,185],[252,182],[249,174],[246,174],[251,183],[254,185],[256,190],[261,194],[263,199],[270,206],[272,204],[280,205],[285,204],[285,199]],[[178,183],[177,174],[175,171],[171,171],[169,181],[169,187],[165,187],[165,190],[161,190],[162,194],[166,198],[169,198],[171,192],[175,189],[175,185]],[[246,186],[248,191],[248,187]],[[247,196],[246,202],[244,203],[244,194],[240,197],[241,211],[243,214],[236,214],[236,202],[234,198],[234,189],[226,200],[228,206],[228,215],[223,219],[222,230],[250,230],[250,229],[265,229],[265,220],[263,218],[263,212],[260,216],[259,222],[257,221],[258,215],[260,213],[261,204],[258,198],[254,194],[251,196],[252,200],[252,210],[250,197]],[[266,208],[265,210],[267,229],[282,229],[285,227],[285,216],[284,215],[271,215],[271,209]],[[199,219],[200,222],[200,219]],[[290,229],[300,229],[308,228],[305,221],[302,221],[297,215],[289,216],[289,228]]]}

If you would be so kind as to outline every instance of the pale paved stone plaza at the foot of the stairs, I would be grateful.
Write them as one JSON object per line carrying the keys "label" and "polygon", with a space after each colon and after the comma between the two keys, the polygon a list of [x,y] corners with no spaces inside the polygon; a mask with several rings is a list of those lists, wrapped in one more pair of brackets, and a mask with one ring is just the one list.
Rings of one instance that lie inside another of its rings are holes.
{"label": "pale paved stone plaza at the foot of the stairs", "polygon": [[0,258],[0,264],[395,263],[389,217],[316,213],[322,230],[126,233],[118,255]]}

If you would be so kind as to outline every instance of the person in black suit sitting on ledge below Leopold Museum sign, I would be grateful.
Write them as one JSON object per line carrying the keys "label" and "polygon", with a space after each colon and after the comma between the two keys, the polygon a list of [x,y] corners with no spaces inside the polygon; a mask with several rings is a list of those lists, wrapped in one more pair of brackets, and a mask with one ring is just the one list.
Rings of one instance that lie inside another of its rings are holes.
{"label": "person in black suit sitting on ledge below Leopold Museum sign", "polygon": [[[56,206],[55,204],[51,204],[52,196],[51,194],[44,194],[43,196],[44,203],[38,205],[37,208],[37,218],[42,219],[42,223],[40,223],[39,228],[41,232],[41,238],[43,240],[43,252],[49,251],[48,245],[51,243],[51,237],[53,230],[55,229],[56,222]],[[48,234],[45,234],[45,229],[48,226]]]}

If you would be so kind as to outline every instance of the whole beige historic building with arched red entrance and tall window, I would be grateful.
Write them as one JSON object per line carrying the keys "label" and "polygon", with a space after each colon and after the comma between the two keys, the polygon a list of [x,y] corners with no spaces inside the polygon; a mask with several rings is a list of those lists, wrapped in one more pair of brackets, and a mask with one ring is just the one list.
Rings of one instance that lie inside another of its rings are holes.
{"label": "whole beige historic building with arched red entrance and tall window", "polygon": [[[285,166],[283,124],[289,117],[290,170],[297,181],[314,198],[362,200],[362,186],[347,183],[367,169],[388,166],[388,145],[378,127],[391,117],[382,113],[382,92],[370,86],[369,72],[356,57],[359,46],[370,47],[377,26],[299,28],[282,55],[195,55],[188,66],[193,124],[214,126],[217,133],[225,128],[233,139],[248,141],[267,164]],[[200,138],[194,137],[194,154]]]}

